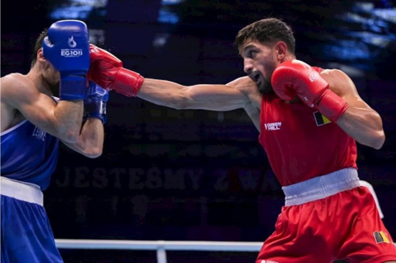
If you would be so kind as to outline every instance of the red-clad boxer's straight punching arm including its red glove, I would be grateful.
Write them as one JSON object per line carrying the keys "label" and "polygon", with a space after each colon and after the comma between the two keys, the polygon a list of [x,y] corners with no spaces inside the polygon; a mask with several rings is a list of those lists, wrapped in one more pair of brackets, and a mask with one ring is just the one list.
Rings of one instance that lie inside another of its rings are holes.
{"label": "red-clad boxer's straight punching arm including its red glove", "polygon": [[175,109],[230,111],[244,108],[251,96],[258,93],[254,81],[248,77],[227,85],[183,86],[171,81],[145,79],[139,73],[123,68],[121,60],[95,45],[90,45],[90,57],[88,79],[99,86]]}

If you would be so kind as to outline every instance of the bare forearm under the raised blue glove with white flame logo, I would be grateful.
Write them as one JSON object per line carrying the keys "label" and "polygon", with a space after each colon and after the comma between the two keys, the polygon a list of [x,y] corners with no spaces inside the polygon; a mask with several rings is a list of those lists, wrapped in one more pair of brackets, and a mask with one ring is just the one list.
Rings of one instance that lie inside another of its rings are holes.
{"label": "bare forearm under the raised blue glove with white flame logo", "polygon": [[83,101],[58,102],[54,110],[55,123],[54,128],[57,130],[59,139],[73,143],[77,140],[81,130],[82,115],[84,107]]}

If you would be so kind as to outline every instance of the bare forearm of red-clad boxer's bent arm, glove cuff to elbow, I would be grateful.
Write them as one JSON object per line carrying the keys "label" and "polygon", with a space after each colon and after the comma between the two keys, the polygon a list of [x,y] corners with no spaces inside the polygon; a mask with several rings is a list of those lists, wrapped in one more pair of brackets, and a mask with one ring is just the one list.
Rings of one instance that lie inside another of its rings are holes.
{"label": "bare forearm of red-clad boxer's bent arm, glove cuff to elbow", "polygon": [[379,149],[385,142],[381,117],[372,109],[349,107],[337,124],[363,145]]}

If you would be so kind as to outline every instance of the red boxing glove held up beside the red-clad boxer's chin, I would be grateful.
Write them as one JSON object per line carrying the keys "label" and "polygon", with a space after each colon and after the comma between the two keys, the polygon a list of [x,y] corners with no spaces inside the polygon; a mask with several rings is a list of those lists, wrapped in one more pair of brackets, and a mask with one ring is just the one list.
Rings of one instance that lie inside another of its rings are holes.
{"label": "red boxing glove held up beside the red-clad boxer's chin", "polygon": [[329,83],[318,71],[300,60],[280,64],[272,73],[271,84],[280,98],[291,101],[298,96],[332,122],[337,122],[349,107],[345,100],[329,90]]}

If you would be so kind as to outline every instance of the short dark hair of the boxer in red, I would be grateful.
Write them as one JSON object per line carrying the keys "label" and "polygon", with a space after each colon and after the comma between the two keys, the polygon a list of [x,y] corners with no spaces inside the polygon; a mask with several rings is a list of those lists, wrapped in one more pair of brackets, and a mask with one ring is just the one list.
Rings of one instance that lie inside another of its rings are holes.
{"label": "short dark hair of the boxer in red", "polygon": [[247,40],[272,45],[283,41],[289,52],[295,54],[295,39],[290,26],[277,18],[266,18],[256,21],[239,30],[235,45],[240,48]]}

